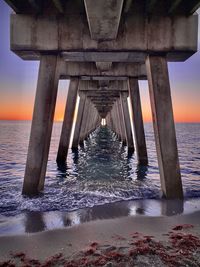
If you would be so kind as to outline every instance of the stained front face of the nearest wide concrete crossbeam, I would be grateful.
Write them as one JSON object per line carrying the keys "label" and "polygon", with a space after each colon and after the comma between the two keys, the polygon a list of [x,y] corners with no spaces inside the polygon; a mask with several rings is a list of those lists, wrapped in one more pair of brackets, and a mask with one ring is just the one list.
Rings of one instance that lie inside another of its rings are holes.
{"label": "stained front face of the nearest wide concrete crossbeam", "polygon": [[[154,16],[127,14],[115,40],[92,40],[85,17],[11,15],[11,50],[31,59],[37,53],[59,52],[137,52],[163,53],[170,60],[184,61],[197,51],[198,16]],[[36,53],[36,54],[35,54]],[[38,55],[36,57],[38,59]],[[117,53],[116,53],[117,60]],[[98,60],[103,62],[104,59]],[[106,60],[107,61],[107,60]]]}

